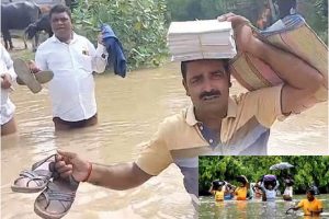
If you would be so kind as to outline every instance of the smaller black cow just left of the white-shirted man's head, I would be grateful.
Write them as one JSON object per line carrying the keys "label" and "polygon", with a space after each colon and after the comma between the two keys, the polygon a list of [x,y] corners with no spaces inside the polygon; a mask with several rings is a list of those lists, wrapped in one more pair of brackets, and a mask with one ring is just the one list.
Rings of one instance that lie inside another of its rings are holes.
{"label": "smaller black cow just left of the white-shirted man's head", "polygon": [[50,26],[49,13],[43,14],[36,22],[30,24],[25,30],[25,35],[29,39],[36,37],[36,42],[38,42],[37,33],[41,31],[45,31],[49,35],[49,37],[53,36],[54,33]]}

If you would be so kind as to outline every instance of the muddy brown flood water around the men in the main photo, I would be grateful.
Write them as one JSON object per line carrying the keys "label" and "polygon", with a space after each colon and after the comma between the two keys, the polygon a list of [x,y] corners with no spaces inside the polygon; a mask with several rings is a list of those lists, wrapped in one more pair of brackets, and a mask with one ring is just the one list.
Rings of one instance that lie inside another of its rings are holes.
{"label": "muddy brown flood water around the men in the main photo", "polygon": [[[137,158],[143,141],[169,115],[189,105],[181,85],[179,65],[134,71],[122,79],[95,77],[99,125],[68,132],[54,132],[48,90],[32,94],[15,87],[19,132],[1,138],[1,209],[3,219],[37,218],[33,204],[37,194],[11,192],[10,185],[23,169],[55,153],[78,152],[98,163],[118,163]],[[243,91],[237,84],[231,93]],[[327,103],[321,103],[284,123],[276,123],[270,139],[271,154],[327,154]],[[182,174],[171,165],[140,187],[116,192],[81,183],[66,218],[193,218]]]}

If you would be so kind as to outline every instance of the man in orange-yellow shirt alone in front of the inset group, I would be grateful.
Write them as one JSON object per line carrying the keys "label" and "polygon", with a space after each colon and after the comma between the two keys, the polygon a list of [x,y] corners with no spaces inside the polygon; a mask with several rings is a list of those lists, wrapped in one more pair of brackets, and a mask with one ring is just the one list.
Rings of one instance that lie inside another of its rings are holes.
{"label": "man in orange-yellow shirt alone in front of the inset group", "polygon": [[306,192],[306,199],[298,203],[293,210],[303,208],[305,216],[319,216],[324,211],[322,201],[315,197],[315,191],[308,189]]}

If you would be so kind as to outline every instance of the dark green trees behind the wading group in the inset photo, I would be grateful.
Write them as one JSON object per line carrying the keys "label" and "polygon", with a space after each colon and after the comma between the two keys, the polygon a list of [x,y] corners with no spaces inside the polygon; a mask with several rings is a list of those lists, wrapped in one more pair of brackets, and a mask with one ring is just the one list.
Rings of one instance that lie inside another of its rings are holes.
{"label": "dark green trees behind the wading group in the inset photo", "polygon": [[[246,175],[249,182],[257,182],[264,174],[282,178],[287,170],[270,171],[279,162],[288,162],[295,168],[288,172],[294,176],[294,191],[305,193],[315,183],[324,193],[329,193],[329,157],[201,157],[198,159],[198,189],[204,193],[212,181],[225,180],[237,184],[237,175]],[[283,185],[283,184],[281,184]],[[283,191],[283,186],[280,187]]]}

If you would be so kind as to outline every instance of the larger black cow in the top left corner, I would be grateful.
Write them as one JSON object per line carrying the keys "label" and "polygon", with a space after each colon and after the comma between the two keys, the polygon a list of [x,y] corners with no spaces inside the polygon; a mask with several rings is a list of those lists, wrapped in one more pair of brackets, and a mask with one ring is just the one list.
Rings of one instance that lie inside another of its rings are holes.
{"label": "larger black cow in the top left corner", "polygon": [[[25,30],[29,24],[35,22],[39,15],[41,11],[38,7],[29,1],[1,4],[1,32],[4,47],[7,49],[9,46],[10,49],[13,48],[10,30]],[[25,43],[25,48],[26,47],[27,45]]]}

